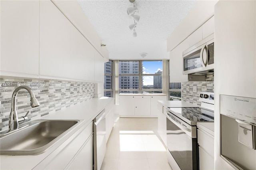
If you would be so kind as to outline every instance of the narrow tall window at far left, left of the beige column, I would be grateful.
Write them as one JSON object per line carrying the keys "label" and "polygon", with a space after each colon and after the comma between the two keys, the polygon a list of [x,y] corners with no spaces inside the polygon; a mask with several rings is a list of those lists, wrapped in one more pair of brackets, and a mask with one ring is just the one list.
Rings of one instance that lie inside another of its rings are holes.
{"label": "narrow tall window at far left, left of the beige column", "polygon": [[112,97],[112,77],[113,77],[113,62],[110,60],[104,63],[104,96]]}

